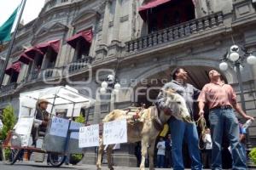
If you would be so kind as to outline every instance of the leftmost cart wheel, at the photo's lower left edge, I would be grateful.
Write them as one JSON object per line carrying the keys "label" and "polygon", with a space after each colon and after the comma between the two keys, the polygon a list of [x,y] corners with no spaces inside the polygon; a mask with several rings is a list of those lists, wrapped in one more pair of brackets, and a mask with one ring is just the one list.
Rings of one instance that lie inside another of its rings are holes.
{"label": "leftmost cart wheel, at the photo's lower left edge", "polygon": [[2,146],[2,157],[5,164],[14,165],[20,155],[20,149]]}

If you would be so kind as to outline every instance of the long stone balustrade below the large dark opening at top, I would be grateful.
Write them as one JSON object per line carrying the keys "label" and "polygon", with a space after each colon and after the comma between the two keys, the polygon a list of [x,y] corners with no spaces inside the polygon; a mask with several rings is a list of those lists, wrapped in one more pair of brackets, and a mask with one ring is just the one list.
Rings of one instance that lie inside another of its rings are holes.
{"label": "long stone balustrade below the large dark opening at top", "polygon": [[150,33],[145,37],[125,42],[125,50],[127,53],[136,53],[145,48],[154,47],[165,42],[172,42],[183,37],[189,37],[196,32],[205,31],[223,25],[223,23],[222,12],[210,14],[200,19],[189,20],[177,26]]}

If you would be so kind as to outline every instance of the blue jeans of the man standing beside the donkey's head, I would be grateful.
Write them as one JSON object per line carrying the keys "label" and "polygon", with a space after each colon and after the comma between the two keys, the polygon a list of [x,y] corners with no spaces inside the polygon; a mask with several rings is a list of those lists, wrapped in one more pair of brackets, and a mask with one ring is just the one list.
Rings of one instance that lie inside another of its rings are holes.
{"label": "blue jeans of the man standing beside the donkey's head", "polygon": [[195,123],[182,122],[172,117],[169,122],[172,135],[172,162],[174,170],[182,170],[183,166],[183,138],[189,146],[191,169],[201,170],[201,156],[198,149],[198,133]]}

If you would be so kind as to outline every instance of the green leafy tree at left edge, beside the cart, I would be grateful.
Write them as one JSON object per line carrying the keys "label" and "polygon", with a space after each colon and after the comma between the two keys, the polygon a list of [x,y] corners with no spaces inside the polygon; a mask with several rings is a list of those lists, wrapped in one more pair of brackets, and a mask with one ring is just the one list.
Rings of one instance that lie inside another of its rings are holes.
{"label": "green leafy tree at left edge, beside the cart", "polygon": [[11,105],[3,109],[3,129],[0,132],[0,139],[4,140],[9,130],[15,127],[16,116],[15,110]]}

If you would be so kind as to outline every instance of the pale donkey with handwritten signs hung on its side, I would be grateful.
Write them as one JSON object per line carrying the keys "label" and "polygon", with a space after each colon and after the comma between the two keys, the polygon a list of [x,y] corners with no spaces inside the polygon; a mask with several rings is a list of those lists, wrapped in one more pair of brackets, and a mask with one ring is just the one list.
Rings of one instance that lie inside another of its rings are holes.
{"label": "pale donkey with handwritten signs hung on its side", "polygon": [[[184,122],[192,122],[183,97],[172,90],[168,90],[165,93],[166,98],[164,99],[164,102],[165,105],[171,109],[172,112],[170,113],[159,110],[156,106],[150,106],[148,109],[143,110],[140,122],[131,123],[129,121],[129,116],[126,115],[126,111],[114,110],[105,116],[102,121],[111,122],[124,118],[127,119],[128,143],[135,143],[138,141],[141,141],[142,143],[142,161],[140,170],[145,170],[145,158],[147,154],[149,156],[149,170],[154,170],[155,139],[160,133],[160,127],[162,127],[171,116],[175,116],[177,119],[183,120]],[[113,146],[114,144],[110,144],[107,147],[108,168],[110,170],[113,170],[113,162],[111,159]],[[102,169],[103,150],[103,139],[101,139],[96,162],[97,170]]]}

